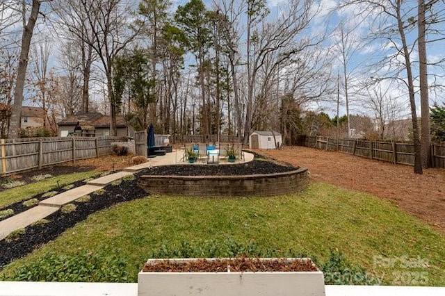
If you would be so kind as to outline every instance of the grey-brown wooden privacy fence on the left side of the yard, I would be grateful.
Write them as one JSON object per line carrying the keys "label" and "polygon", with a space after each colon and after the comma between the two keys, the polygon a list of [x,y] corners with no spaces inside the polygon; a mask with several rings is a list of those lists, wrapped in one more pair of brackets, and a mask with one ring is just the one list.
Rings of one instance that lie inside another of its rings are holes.
{"label": "grey-brown wooden privacy fence on the left side of the yard", "polygon": [[109,155],[118,138],[0,139],[0,174]]}

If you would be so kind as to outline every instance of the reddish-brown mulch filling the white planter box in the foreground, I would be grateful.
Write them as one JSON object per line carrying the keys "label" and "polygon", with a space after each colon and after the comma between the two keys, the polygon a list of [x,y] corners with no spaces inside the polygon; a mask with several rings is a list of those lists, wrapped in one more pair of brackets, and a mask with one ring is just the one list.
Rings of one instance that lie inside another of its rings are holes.
{"label": "reddish-brown mulch filling the white planter box in the foreground", "polygon": [[161,261],[145,263],[143,272],[308,272],[318,271],[310,260],[288,261],[284,258],[260,260],[259,258],[230,258],[196,261]]}

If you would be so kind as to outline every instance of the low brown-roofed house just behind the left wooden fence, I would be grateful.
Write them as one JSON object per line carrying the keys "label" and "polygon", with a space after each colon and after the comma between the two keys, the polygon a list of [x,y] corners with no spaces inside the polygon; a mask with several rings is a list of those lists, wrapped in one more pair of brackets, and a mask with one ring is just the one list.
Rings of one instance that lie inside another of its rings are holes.
{"label": "low brown-roofed house just behind the left wooden fence", "polygon": [[[127,124],[122,116],[116,116],[118,137],[127,137]],[[110,116],[101,113],[79,113],[69,115],[57,122],[58,136],[68,135],[108,137],[110,135]],[[134,130],[129,127],[129,135]]]}

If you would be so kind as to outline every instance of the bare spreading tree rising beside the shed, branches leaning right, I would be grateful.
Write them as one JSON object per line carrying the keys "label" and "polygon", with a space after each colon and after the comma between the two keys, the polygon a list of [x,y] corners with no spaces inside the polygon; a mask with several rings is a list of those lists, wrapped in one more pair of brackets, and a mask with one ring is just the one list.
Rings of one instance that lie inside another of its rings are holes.
{"label": "bare spreading tree rising beside the shed, branches leaning right", "polygon": [[[314,1],[296,0],[291,1],[286,11],[283,9],[273,23],[263,18],[254,26],[252,19],[250,41],[247,40],[250,44],[247,47],[246,65],[248,99],[243,140],[245,144],[252,131],[255,105],[261,104],[261,100],[267,97],[264,90],[268,90],[268,81],[276,76],[277,70],[289,60],[298,60],[305,49],[316,47],[324,39],[324,35],[312,36],[313,38],[299,35],[309,26],[316,13],[318,6]],[[248,24],[248,32],[250,29]]]}

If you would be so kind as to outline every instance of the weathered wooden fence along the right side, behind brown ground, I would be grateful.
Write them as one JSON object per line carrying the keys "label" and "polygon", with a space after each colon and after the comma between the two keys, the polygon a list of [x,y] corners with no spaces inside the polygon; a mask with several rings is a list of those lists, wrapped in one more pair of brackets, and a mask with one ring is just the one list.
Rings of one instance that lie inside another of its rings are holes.
{"label": "weathered wooden fence along the right side, behind brown ground", "polygon": [[[385,142],[360,139],[337,139],[303,135],[298,144],[328,151],[341,151],[379,161],[401,165],[414,165],[414,144],[411,142]],[[432,167],[445,168],[445,144],[431,145]]]}

